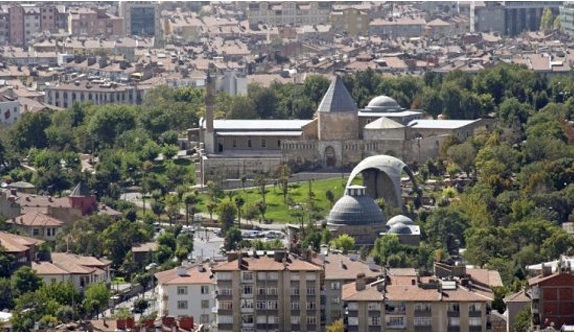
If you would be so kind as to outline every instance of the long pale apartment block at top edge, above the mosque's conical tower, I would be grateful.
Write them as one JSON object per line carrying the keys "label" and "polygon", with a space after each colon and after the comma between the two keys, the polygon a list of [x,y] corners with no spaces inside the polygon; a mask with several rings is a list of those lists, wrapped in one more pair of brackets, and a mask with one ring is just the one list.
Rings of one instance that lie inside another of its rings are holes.
{"label": "long pale apartment block at top edge, above the mosque's conical tower", "polygon": [[250,2],[247,16],[251,26],[266,25],[318,25],[329,24],[331,2],[329,1],[285,1]]}

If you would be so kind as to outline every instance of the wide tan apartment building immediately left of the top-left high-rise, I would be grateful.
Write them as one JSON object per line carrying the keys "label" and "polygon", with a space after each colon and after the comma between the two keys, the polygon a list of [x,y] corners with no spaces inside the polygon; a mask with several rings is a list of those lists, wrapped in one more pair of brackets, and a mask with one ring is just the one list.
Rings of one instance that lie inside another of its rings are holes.
{"label": "wide tan apartment building immediately left of the top-left high-rise", "polygon": [[123,18],[106,12],[104,8],[71,8],[68,14],[68,32],[76,36],[123,36],[123,21]]}

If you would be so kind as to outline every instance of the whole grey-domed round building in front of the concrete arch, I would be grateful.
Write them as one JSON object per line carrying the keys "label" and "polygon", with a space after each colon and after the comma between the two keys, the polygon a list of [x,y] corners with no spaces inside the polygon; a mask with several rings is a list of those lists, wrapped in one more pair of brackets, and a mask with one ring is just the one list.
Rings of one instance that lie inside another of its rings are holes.
{"label": "whole grey-domed round building in front of the concrete arch", "polygon": [[347,234],[355,238],[357,245],[372,245],[385,231],[385,221],[385,214],[367,195],[366,188],[351,185],[331,209],[327,227],[334,237]]}

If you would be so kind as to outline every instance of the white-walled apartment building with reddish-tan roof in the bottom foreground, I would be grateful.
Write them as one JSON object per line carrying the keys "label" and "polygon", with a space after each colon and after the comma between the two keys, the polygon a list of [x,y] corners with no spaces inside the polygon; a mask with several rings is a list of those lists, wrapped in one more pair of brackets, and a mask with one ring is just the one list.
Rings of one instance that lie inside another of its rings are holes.
{"label": "white-walled apartment building with reddish-tan roof in the bottom foreground", "polygon": [[212,330],[215,325],[215,280],[208,265],[184,263],[156,273],[155,278],[159,288],[160,317],[192,316],[198,324]]}

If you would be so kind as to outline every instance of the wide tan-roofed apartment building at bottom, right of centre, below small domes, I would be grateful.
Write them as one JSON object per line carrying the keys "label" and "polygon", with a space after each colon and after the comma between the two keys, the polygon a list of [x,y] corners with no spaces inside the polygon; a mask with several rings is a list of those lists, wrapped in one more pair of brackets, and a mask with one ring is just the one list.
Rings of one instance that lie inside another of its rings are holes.
{"label": "wide tan-roofed apartment building at bottom, right of centre, below small domes", "polygon": [[[349,332],[483,332],[489,326],[492,287],[500,274],[486,269],[435,264],[435,276],[389,270],[374,282],[359,274],[343,286]],[[369,283],[370,282],[370,283]]]}

